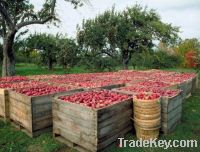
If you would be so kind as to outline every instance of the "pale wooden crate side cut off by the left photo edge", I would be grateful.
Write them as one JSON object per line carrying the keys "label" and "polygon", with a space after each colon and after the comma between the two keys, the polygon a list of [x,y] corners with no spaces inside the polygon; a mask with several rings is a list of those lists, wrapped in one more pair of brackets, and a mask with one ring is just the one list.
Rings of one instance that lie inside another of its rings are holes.
{"label": "pale wooden crate side cut off by the left photo edge", "polygon": [[0,118],[4,121],[9,118],[8,89],[0,89]]}

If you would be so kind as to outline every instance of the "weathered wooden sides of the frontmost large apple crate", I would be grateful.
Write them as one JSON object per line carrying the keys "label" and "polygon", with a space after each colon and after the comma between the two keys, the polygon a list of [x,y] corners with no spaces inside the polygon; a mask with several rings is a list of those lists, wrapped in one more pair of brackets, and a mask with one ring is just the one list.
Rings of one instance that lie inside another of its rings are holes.
{"label": "weathered wooden sides of the frontmost large apple crate", "polygon": [[79,151],[102,151],[133,129],[132,100],[102,109],[53,101],[54,137]]}

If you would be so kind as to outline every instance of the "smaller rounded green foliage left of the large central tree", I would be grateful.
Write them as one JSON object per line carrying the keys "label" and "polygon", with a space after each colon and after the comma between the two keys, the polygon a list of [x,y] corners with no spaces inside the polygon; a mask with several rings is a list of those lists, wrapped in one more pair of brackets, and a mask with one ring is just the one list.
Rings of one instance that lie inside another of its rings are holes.
{"label": "smaller rounded green foliage left of the large central tree", "polygon": [[39,65],[52,70],[53,64],[71,68],[79,61],[80,51],[74,39],[63,35],[34,34],[25,41],[25,48],[20,52],[24,57],[38,60]]}

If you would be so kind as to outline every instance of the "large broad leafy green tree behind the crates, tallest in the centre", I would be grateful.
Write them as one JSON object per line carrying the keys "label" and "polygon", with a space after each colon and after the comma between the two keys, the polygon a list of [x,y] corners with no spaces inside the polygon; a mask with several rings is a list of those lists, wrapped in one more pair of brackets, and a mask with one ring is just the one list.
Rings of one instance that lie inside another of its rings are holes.
{"label": "large broad leafy green tree behind the crates, tallest in the centre", "polygon": [[83,20],[77,39],[90,54],[121,56],[127,68],[133,53],[151,50],[155,40],[175,44],[178,32],[179,28],[163,23],[155,10],[135,5],[122,12],[112,8],[95,19]]}

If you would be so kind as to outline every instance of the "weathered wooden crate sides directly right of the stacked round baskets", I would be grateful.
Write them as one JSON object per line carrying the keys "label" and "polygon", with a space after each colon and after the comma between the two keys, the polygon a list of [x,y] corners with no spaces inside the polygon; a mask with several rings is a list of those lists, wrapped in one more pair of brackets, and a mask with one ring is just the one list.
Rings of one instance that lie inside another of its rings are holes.
{"label": "weathered wooden crate sides directly right of the stacked round baskets", "polygon": [[182,116],[183,95],[161,98],[161,131],[168,134],[174,131]]}

